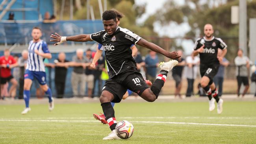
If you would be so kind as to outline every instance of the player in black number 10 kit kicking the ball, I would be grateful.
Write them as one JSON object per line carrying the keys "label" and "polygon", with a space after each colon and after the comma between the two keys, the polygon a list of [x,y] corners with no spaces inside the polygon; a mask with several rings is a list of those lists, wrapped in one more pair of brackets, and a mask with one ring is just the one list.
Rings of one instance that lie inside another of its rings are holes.
{"label": "player in black number 10 kit kicking the ball", "polygon": [[105,83],[102,94],[100,96],[100,103],[106,120],[111,129],[111,133],[104,137],[103,140],[120,139],[115,133],[115,111],[110,102],[120,102],[122,96],[127,89],[136,92],[148,102],[154,102],[158,98],[158,94],[163,87],[167,73],[178,64],[178,61],[171,60],[165,63],[160,63],[160,74],[157,76],[156,81],[152,84],[151,88],[147,86],[143,77],[136,70],[136,63],[132,57],[132,44],[138,44],[155,52],[165,55],[171,59],[178,59],[180,55],[177,52],[168,52],[163,50],[156,44],[142,39],[132,31],[117,26],[117,18],[114,11],[105,11],[102,14],[104,30],[93,34],[82,34],[70,37],[61,37],[51,35],[57,44],[64,41],[96,41],[104,46],[105,57],[109,68],[109,79]]}

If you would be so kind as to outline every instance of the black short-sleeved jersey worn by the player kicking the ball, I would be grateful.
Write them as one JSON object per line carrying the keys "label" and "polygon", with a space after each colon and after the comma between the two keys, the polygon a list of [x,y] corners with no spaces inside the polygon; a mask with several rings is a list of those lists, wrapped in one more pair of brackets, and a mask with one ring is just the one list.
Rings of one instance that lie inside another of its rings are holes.
{"label": "black short-sleeved jersey worn by the player kicking the ball", "polygon": [[113,35],[108,35],[104,30],[91,34],[91,39],[103,45],[100,50],[105,50],[109,79],[126,70],[136,70],[130,47],[141,37],[130,30],[118,27]]}

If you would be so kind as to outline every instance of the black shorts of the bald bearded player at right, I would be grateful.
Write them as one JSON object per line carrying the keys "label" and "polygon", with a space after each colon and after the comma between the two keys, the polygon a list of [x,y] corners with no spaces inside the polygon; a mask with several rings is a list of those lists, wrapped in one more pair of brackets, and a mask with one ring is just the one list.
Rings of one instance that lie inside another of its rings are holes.
{"label": "black shorts of the bald bearded player at right", "polygon": [[213,65],[200,65],[200,74],[201,77],[207,76],[210,80],[217,74],[219,70],[219,64]]}

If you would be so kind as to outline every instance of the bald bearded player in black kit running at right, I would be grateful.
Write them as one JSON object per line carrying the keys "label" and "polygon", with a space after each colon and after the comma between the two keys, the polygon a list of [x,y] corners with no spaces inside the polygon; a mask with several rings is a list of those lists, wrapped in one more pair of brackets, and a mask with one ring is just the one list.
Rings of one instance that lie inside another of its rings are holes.
{"label": "bald bearded player in black kit running at right", "polygon": [[[217,74],[220,62],[227,52],[227,45],[217,37],[213,36],[213,27],[211,24],[204,26],[204,37],[195,42],[194,56],[200,55],[200,74],[202,76],[201,86],[209,98],[209,111],[215,109],[215,100],[217,102],[217,113],[222,113],[223,100],[218,97],[218,90],[213,83],[213,77]],[[223,50],[221,56],[217,56],[218,48]],[[214,99],[213,99],[213,98]]]}

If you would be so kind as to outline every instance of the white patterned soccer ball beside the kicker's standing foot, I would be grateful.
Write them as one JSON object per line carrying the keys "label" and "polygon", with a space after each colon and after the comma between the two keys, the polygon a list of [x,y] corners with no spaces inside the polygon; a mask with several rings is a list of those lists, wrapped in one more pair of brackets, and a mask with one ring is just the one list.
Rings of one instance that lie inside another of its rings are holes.
{"label": "white patterned soccer ball beside the kicker's standing foot", "polygon": [[134,126],[127,120],[122,120],[115,127],[115,131],[118,137],[127,139],[132,137],[132,134],[134,133]]}

